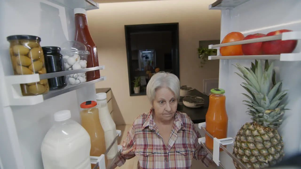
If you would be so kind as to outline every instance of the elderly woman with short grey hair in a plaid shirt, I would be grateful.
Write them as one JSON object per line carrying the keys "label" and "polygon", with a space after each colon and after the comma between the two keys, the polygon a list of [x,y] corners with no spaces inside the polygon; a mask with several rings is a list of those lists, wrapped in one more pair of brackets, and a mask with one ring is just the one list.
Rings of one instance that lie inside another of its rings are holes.
{"label": "elderly woman with short grey hair in a plaid shirt", "polygon": [[210,159],[197,139],[199,132],[185,113],[177,111],[180,81],[171,73],[156,73],[148,82],[146,94],[152,108],[133,122],[123,150],[111,168],[137,156],[141,169],[189,169],[192,159]]}

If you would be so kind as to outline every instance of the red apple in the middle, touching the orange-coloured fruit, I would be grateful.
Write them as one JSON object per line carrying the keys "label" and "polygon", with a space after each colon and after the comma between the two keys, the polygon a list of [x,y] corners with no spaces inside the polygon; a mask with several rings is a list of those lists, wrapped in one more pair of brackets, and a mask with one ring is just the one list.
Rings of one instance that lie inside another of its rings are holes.
{"label": "red apple in the middle, touching the orange-coloured fruit", "polygon": [[[261,38],[261,37],[265,37],[265,34],[256,33],[256,34],[252,34],[252,35],[247,35],[244,38],[244,40]],[[260,55],[261,54],[261,44],[262,44],[262,42],[243,44],[243,45],[241,45],[241,48],[244,52],[244,55]]]}

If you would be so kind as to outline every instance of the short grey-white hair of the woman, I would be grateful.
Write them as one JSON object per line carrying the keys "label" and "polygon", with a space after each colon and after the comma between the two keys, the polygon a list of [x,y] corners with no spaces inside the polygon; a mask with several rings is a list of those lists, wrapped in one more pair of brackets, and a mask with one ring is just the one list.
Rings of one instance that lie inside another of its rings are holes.
{"label": "short grey-white hair of the woman", "polygon": [[179,78],[168,72],[158,72],[154,74],[146,86],[146,95],[148,100],[153,104],[156,91],[159,88],[169,88],[174,94],[175,99],[180,99],[180,81]]}

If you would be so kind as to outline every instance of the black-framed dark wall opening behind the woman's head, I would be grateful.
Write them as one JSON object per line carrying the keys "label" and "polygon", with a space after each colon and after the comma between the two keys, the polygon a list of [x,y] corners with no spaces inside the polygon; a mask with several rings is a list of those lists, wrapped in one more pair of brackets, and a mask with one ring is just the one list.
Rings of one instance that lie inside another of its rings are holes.
{"label": "black-framed dark wall opening behind the woman's head", "polygon": [[[124,27],[130,96],[146,95],[146,85],[158,71],[170,72],[180,78],[178,23]],[[134,90],[133,81],[139,77],[139,88]]]}

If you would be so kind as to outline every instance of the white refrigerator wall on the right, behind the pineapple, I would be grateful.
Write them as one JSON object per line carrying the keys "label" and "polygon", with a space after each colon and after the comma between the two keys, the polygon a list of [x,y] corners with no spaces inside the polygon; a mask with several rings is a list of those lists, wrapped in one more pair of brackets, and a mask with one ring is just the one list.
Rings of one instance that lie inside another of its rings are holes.
{"label": "white refrigerator wall on the right, behind the pineapple", "polygon": [[[299,0],[250,0],[234,9],[222,11],[221,41],[229,32],[242,32],[245,36],[254,33],[268,33],[279,29],[301,31],[301,1]],[[298,41],[294,53],[300,52]],[[246,114],[247,106],[242,100],[247,100],[241,93],[247,92],[240,86],[244,80],[234,72],[239,72],[232,64],[240,63],[250,67],[254,60],[220,60],[219,88],[225,89],[226,109],[229,118],[228,137],[234,137],[240,127],[250,122]],[[279,132],[284,140],[286,157],[299,152],[301,132],[301,62],[275,61],[276,81],[282,80],[282,89],[287,89],[287,110],[285,120]],[[232,152],[232,147],[228,146]],[[225,168],[234,168],[228,155],[221,157]]]}

